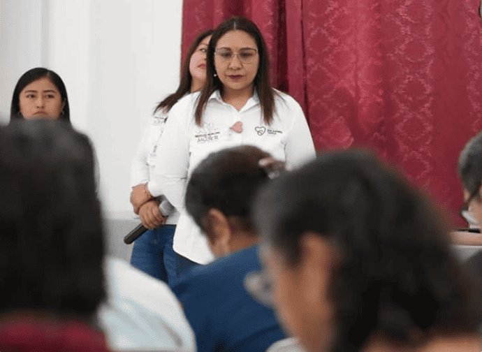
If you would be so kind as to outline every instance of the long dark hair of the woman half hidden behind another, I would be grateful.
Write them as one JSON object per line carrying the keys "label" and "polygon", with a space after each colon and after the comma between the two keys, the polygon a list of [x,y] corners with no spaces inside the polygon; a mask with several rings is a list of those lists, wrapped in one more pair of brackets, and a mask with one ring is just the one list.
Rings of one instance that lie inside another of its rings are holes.
{"label": "long dark hair of the woman half hidden behind another", "polygon": [[204,40],[204,38],[210,36],[212,32],[213,30],[209,29],[207,31],[203,31],[203,33],[196,36],[193,43],[189,47],[189,50],[187,50],[186,58],[182,63],[179,87],[177,87],[176,91],[173,94],[170,94],[169,96],[164,98],[161,103],[157,104],[156,108],[154,109],[154,113],[159,110],[164,110],[165,112],[168,112],[170,108],[172,108],[174,104],[177,103],[177,101],[184,96],[184,94],[187,94],[191,91],[192,76],[189,72],[189,61],[191,61],[191,56],[196,51],[196,47],[198,47],[198,45]]}

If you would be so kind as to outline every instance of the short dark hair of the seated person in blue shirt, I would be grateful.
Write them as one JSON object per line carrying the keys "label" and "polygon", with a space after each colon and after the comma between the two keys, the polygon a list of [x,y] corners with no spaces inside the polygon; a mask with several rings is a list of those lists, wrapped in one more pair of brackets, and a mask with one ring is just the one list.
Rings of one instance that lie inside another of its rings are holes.
{"label": "short dark hair of the seated person in blue shirt", "polygon": [[[267,168],[259,166],[270,154],[244,145],[223,149],[207,156],[193,171],[186,189],[186,209],[205,229],[207,212],[215,208],[226,217],[237,217],[243,229],[252,231],[249,214],[254,197],[269,179]],[[272,167],[279,164],[272,163]]]}

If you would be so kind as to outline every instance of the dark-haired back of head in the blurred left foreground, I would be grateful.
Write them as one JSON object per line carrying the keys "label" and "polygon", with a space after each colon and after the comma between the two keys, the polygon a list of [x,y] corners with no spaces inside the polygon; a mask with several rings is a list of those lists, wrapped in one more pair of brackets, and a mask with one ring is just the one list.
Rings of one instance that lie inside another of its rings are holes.
{"label": "dark-haired back of head in the blurred left foreground", "polygon": [[88,318],[103,300],[103,231],[88,138],[69,124],[0,129],[0,312]]}

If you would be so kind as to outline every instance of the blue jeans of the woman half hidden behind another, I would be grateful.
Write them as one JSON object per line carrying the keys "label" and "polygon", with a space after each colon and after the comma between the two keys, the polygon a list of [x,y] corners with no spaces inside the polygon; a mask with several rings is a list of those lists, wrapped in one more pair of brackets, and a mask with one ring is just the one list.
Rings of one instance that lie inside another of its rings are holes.
{"label": "blue jeans of the woman half hidden behind another", "polygon": [[175,225],[163,225],[147,230],[135,242],[132,249],[131,265],[156,279],[175,284],[176,253],[173,249]]}

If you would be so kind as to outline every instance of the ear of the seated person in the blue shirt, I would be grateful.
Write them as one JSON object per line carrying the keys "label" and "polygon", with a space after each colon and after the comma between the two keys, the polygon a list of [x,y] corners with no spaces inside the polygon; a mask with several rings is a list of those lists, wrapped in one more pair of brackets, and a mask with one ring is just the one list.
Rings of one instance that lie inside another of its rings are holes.
{"label": "ear of the seated person in the blue shirt", "polygon": [[226,256],[231,253],[231,227],[228,218],[221,211],[212,208],[207,212],[207,238],[214,256]]}

